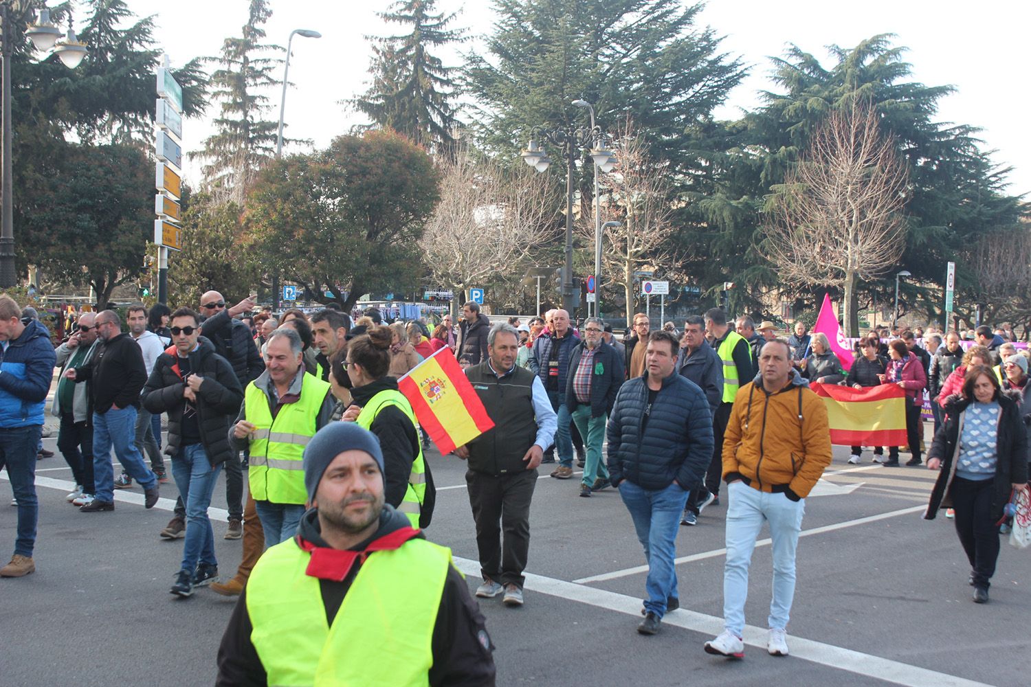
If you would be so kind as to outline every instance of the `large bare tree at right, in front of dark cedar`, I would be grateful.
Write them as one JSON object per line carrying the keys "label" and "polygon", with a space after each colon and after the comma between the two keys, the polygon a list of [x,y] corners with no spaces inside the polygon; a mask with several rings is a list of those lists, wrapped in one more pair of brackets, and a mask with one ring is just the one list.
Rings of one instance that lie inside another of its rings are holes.
{"label": "large bare tree at right, in front of dark cedar", "polygon": [[767,201],[769,259],[788,283],[844,290],[844,329],[859,329],[856,287],[902,255],[908,170],[876,111],[854,103],[830,114]]}

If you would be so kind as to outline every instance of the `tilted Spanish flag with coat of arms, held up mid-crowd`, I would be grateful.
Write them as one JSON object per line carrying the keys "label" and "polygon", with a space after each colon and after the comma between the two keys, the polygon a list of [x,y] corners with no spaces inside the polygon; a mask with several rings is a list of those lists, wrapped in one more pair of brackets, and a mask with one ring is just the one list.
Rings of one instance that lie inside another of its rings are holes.
{"label": "tilted Spanish flag with coat of arms, held up mid-crowd", "polygon": [[[440,355],[443,353],[443,355]],[[451,349],[441,348],[397,380],[441,455],[494,426]]]}

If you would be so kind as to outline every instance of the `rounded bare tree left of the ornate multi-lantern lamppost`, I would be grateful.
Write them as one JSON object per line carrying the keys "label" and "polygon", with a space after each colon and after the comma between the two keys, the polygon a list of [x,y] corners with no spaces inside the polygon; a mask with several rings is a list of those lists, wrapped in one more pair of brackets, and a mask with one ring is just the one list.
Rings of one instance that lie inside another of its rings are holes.
{"label": "rounded bare tree left of the ornate multi-lantern lamppost", "polygon": [[559,198],[543,174],[465,154],[438,158],[440,202],[420,241],[433,276],[456,291],[518,270],[555,228]]}

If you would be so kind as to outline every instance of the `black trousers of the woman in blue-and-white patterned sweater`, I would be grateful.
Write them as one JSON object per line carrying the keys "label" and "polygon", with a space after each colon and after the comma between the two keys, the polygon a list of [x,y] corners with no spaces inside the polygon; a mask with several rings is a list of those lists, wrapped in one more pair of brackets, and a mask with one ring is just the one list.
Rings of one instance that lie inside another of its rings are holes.
{"label": "black trousers of the woman in blue-and-white patterned sweater", "polygon": [[988,589],[999,558],[999,527],[992,519],[994,479],[954,477],[950,493],[956,510],[956,534],[973,572],[973,586]]}

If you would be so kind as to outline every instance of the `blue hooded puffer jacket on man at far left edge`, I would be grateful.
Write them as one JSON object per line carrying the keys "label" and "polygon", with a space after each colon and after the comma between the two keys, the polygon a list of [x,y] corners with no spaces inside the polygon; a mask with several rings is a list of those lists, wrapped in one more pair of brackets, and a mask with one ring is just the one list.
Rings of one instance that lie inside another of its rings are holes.
{"label": "blue hooded puffer jacket on man at far left edge", "polygon": [[57,363],[51,333],[30,319],[22,336],[5,343],[0,360],[0,427],[42,424]]}

